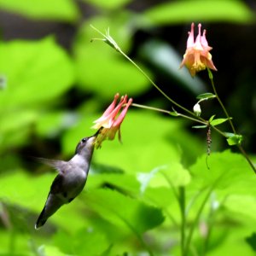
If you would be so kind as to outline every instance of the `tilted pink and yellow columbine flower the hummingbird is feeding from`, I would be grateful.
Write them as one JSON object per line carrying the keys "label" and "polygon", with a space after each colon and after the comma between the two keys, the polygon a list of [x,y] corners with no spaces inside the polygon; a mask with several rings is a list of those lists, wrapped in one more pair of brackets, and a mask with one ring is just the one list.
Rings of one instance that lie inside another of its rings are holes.
{"label": "tilted pink and yellow columbine flower the hummingbird is feeding from", "polygon": [[[126,95],[121,96],[119,104],[116,106],[118,98],[119,93],[114,96],[113,102],[102,114],[102,117],[94,121],[96,125],[93,125],[92,128],[101,129],[96,138],[96,148],[101,147],[102,142],[106,139],[113,140],[117,131],[119,131],[119,141],[121,142],[120,125],[125,119],[125,114],[127,113],[128,108],[131,106],[132,99],[129,99],[127,102],[128,97]],[[123,107],[124,105],[125,107]],[[123,110],[119,114],[121,108],[123,108]]]}

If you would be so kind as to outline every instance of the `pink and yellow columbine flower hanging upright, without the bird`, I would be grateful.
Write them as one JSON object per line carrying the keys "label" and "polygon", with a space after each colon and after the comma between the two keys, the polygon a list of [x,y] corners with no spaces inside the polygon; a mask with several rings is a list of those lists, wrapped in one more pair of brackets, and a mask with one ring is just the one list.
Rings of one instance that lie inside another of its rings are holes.
{"label": "pink and yellow columbine flower hanging upright, without the bird", "polygon": [[207,31],[204,30],[203,35],[201,36],[201,24],[198,24],[198,35],[194,40],[194,26],[194,23],[192,23],[187,41],[187,49],[180,65],[180,67],[183,67],[184,65],[188,67],[192,77],[195,76],[195,73],[204,70],[207,67],[217,71],[217,68],[212,62],[212,55],[209,53],[212,47],[207,43]]}

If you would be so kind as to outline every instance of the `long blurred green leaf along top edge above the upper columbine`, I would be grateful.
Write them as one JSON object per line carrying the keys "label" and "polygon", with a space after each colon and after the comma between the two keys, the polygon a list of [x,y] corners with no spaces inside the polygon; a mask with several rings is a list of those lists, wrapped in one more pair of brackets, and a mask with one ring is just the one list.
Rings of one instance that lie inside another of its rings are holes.
{"label": "long blurred green leaf along top edge above the upper columbine", "polygon": [[239,23],[253,20],[253,13],[247,5],[242,1],[233,0],[165,2],[148,9],[144,15],[156,25],[191,22],[191,20]]}

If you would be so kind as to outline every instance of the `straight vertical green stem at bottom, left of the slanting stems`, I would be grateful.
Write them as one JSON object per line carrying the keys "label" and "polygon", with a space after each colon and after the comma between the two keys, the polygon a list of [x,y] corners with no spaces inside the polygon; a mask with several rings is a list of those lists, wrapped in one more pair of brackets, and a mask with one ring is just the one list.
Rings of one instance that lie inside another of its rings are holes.
{"label": "straight vertical green stem at bottom, left of the slanting stems", "polygon": [[185,251],[185,239],[186,239],[186,234],[185,234],[185,229],[186,229],[186,213],[185,213],[185,188],[184,187],[179,187],[179,208],[180,208],[180,213],[181,213],[181,232],[180,232],[180,239],[181,239],[181,253],[182,256],[186,255]]}

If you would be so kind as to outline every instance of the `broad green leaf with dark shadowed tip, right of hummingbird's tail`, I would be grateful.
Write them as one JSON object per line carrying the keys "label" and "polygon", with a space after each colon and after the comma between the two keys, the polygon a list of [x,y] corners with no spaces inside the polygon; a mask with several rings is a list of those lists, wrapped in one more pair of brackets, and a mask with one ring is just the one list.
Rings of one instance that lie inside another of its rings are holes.
{"label": "broad green leaf with dark shadowed tip, right of hummingbird's tail", "polygon": [[143,234],[164,221],[160,209],[149,207],[110,189],[93,189],[84,195],[86,205],[112,224]]}

